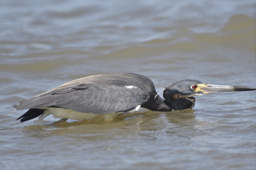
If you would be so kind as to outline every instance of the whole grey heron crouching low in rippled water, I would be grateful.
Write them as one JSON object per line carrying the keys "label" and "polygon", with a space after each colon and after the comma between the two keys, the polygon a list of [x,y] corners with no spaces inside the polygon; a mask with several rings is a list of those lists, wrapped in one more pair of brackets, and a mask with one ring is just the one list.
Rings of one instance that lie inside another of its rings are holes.
{"label": "whole grey heron crouching low in rippled water", "polygon": [[85,113],[122,114],[140,107],[153,111],[184,110],[195,106],[195,96],[198,95],[248,90],[256,89],[182,80],[165,87],[163,99],[158,96],[154,83],[140,74],[98,74],[69,81],[13,107],[29,109],[17,118],[20,122],[39,116],[43,119],[51,114],[57,118],[83,120]]}

